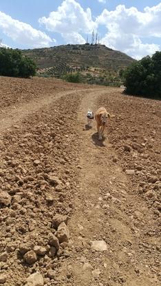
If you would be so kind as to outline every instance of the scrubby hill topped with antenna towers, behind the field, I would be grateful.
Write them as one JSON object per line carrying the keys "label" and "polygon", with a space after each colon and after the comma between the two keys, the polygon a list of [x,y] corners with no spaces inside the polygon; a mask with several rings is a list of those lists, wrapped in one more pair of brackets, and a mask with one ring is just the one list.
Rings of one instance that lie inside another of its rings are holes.
{"label": "scrubby hill topped with antenna towers, behind the field", "polygon": [[81,72],[87,83],[119,82],[119,71],[134,59],[105,45],[59,45],[52,48],[23,50],[34,59],[43,76],[61,77],[70,72]]}

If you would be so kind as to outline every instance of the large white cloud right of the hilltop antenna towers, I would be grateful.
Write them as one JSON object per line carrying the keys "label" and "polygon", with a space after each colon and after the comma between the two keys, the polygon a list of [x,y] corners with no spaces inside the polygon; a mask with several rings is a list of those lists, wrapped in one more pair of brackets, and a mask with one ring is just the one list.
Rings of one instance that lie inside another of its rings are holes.
{"label": "large white cloud right of the hilltop antenna towers", "polygon": [[98,25],[105,25],[107,34],[101,40],[109,48],[121,50],[139,59],[160,50],[154,43],[144,43],[150,37],[161,37],[161,3],[152,8],[125,8],[119,5],[114,11],[103,10],[96,19]]}

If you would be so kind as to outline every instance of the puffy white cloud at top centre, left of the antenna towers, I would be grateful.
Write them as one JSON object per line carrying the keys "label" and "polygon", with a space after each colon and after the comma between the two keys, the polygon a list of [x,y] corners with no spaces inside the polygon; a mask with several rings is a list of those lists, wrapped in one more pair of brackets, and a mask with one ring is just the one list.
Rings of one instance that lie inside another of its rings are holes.
{"label": "puffy white cloud at top centre, left of the antenna towers", "polygon": [[49,17],[42,17],[39,23],[45,25],[48,31],[61,33],[67,43],[84,43],[81,33],[91,33],[97,28],[92,20],[92,12],[89,8],[83,10],[75,0],[64,0],[56,11]]}

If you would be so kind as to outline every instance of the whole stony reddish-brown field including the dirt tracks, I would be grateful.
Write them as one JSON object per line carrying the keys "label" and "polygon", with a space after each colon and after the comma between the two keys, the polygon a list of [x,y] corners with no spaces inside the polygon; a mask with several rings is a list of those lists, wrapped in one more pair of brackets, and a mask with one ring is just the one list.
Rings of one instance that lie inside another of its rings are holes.
{"label": "whole stony reddish-brown field including the dirt tracks", "polygon": [[[160,102],[49,79],[0,82],[0,284],[40,272],[35,286],[159,286]],[[100,105],[115,114],[102,143],[95,124],[85,129],[87,108]]]}

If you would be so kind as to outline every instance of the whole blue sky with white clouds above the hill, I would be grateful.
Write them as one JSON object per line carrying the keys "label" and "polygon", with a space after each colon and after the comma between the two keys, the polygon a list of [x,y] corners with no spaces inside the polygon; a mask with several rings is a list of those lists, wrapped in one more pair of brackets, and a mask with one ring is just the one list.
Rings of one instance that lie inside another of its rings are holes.
{"label": "whole blue sky with white clouds above the hill", "polygon": [[161,50],[158,0],[0,0],[0,46],[44,48],[92,41],[135,59]]}

